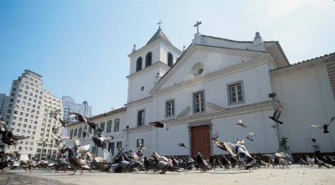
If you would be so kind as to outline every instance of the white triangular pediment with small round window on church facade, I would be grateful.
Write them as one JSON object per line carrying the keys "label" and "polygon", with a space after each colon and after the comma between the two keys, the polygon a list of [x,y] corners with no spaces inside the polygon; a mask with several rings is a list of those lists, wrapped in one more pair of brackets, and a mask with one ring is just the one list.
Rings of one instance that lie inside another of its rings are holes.
{"label": "white triangular pediment with small round window on church facade", "polygon": [[168,73],[165,73],[163,78],[155,85],[150,93],[175,85],[181,85],[190,80],[204,78],[220,70],[232,68],[243,63],[249,63],[263,56],[268,57],[269,54],[261,51],[244,51],[192,44],[182,56],[180,56],[177,63],[168,70]]}

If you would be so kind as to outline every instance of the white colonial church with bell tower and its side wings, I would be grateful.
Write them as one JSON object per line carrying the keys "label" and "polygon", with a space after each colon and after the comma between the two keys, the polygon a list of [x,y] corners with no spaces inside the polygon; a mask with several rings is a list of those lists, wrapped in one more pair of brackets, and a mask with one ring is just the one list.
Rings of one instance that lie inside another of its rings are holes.
{"label": "white colonial church with bell tower and its side wings", "polygon": [[[134,46],[129,58],[125,108],[92,117],[105,134],[116,136],[106,145],[114,154],[122,147],[145,147],[147,156],[153,151],[227,154],[213,145],[215,132],[222,142],[245,139],[252,154],[279,149],[311,153],[311,138],[321,152],[335,151],[335,122],[328,134],[311,127],[335,115],[335,53],[292,65],[278,41],[263,41],[258,32],[253,41],[232,41],[199,31],[180,51],[158,28],[145,46]],[[283,125],[269,119],[279,105]],[[239,120],[247,127],[238,126]],[[154,121],[165,122],[169,129],[148,125]],[[83,138],[76,132],[83,126],[69,124],[68,135]],[[253,142],[246,139],[249,132],[254,133]],[[188,149],[177,146],[181,142]]]}

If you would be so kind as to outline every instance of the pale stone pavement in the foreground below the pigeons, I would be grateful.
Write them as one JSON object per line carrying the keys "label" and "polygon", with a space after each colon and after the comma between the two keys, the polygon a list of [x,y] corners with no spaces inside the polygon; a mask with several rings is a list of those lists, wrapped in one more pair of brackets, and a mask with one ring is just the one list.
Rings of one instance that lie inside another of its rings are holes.
{"label": "pale stone pavement in the foreground below the pigeons", "polygon": [[[0,184],[335,184],[335,169],[318,169],[316,167],[292,166],[290,169],[254,169],[251,172],[237,169],[217,169],[207,173],[187,171],[182,173],[167,172],[167,174],[153,174],[149,171],[136,171],[123,174],[108,174],[103,172],[88,172],[83,175],[71,176],[71,171],[54,173],[51,170],[8,170],[0,172]],[[16,179],[17,178],[17,179]],[[40,179],[41,178],[41,179]]]}

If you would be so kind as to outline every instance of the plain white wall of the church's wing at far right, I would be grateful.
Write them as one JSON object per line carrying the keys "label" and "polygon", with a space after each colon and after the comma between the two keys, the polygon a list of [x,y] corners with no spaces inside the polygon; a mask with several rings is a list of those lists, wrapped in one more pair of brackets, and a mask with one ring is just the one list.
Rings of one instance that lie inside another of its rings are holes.
{"label": "plain white wall of the church's wing at far right", "polygon": [[[289,138],[292,152],[314,152],[312,137],[321,145],[321,152],[334,152],[331,134],[310,125],[324,125],[335,115],[334,97],[324,63],[306,66],[272,75],[274,92],[284,110],[280,132]],[[329,126],[335,134],[335,125]],[[333,142],[335,143],[335,137]]]}

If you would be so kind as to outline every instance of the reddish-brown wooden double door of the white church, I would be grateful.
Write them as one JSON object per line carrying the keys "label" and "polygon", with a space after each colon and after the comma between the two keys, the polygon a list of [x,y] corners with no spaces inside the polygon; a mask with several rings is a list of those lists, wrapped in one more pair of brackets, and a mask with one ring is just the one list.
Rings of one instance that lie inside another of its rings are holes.
{"label": "reddish-brown wooden double door of the white church", "polygon": [[191,127],[192,157],[200,152],[205,159],[210,159],[210,125]]}

